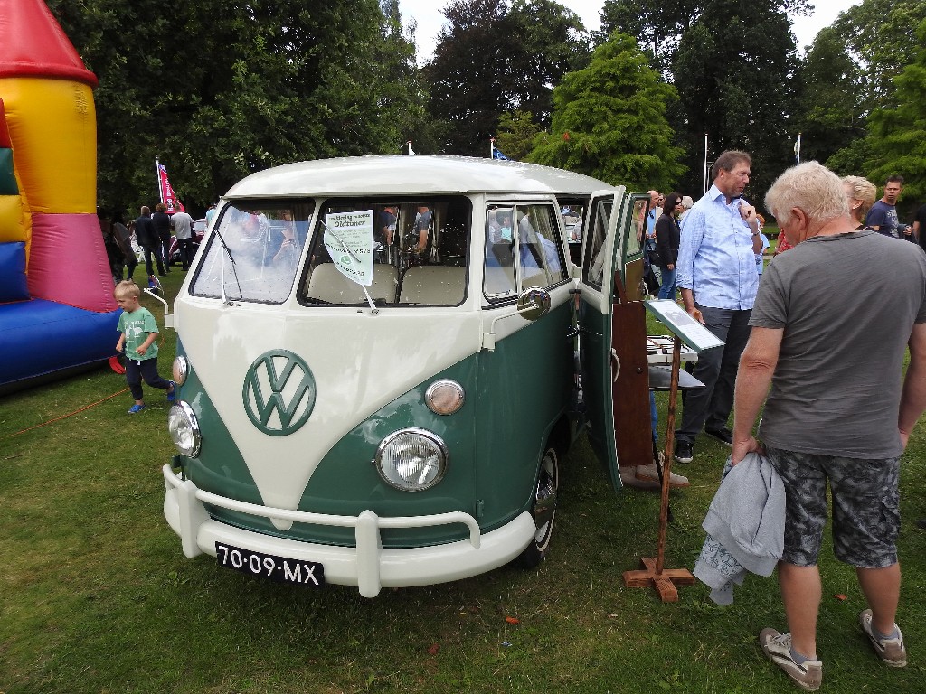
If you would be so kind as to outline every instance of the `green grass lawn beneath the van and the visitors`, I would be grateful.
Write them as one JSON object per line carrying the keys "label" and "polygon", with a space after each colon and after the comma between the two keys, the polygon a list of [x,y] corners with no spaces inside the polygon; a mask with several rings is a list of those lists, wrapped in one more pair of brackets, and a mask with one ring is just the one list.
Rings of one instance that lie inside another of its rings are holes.
{"label": "green grass lawn beneath the van and the visitors", "polygon": [[[181,278],[166,279],[169,295]],[[163,325],[160,305],[143,304]],[[167,375],[174,335],[162,336]],[[656,551],[658,496],[615,494],[584,440],[563,465],[539,570],[504,567],[367,600],[185,559],[161,511],[160,466],[174,452],[164,394],[146,389],[147,410],[130,417],[124,389],[123,377],[98,369],[0,397],[2,694],[797,690],[757,646],[762,627],[785,628],[774,578],[749,576],[726,608],[701,584],[669,604],[624,588],[622,572]],[[660,394],[663,421],[665,405]],[[924,690],[923,432],[901,480],[898,621],[910,663],[895,670],[874,656],[857,625],[865,605],[854,571],[827,540],[823,691]],[[699,440],[696,454],[676,466],[692,486],[672,494],[667,568],[694,566],[727,450]]]}

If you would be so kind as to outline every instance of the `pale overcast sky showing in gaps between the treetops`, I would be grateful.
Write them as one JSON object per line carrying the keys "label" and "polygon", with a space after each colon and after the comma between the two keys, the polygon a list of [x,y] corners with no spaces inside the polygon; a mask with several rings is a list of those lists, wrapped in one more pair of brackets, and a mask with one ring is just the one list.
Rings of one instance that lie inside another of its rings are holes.
{"label": "pale overcast sky showing in gaps between the treetops", "polygon": [[[586,29],[600,29],[599,14],[604,6],[604,0],[558,0],[558,2],[579,15]],[[795,21],[793,31],[797,38],[798,50],[803,53],[804,47],[813,43],[818,31],[830,26],[840,12],[860,2],[861,0],[817,0],[815,3],[817,9],[810,17],[793,18]],[[445,20],[444,15],[441,14],[444,6],[446,6],[444,0],[399,0],[402,21],[406,24],[411,18],[418,21],[415,37],[418,43],[419,63],[432,57],[434,41]]]}

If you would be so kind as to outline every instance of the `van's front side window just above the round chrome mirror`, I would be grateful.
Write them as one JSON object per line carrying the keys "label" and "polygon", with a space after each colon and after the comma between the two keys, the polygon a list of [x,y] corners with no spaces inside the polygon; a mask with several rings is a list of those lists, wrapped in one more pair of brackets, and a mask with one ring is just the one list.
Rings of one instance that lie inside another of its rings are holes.
{"label": "van's front side window just above the round chrome mirror", "polygon": [[516,296],[528,287],[551,287],[564,279],[566,263],[553,205],[487,207],[483,291],[490,300]]}

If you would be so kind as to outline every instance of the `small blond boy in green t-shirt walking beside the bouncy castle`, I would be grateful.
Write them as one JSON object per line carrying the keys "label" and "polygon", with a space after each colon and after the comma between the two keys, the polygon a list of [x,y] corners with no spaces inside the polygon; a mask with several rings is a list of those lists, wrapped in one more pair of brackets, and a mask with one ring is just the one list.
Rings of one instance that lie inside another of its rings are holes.
{"label": "small blond boy in green t-shirt walking beside the bouncy castle", "polygon": [[122,309],[116,351],[121,352],[125,347],[125,379],[135,399],[129,409],[130,415],[144,410],[142,378],[152,388],[167,390],[169,403],[177,399],[177,384],[157,373],[157,322],[155,316],[139,304],[141,296],[142,291],[131,279],[119,282],[113,290],[113,297]]}

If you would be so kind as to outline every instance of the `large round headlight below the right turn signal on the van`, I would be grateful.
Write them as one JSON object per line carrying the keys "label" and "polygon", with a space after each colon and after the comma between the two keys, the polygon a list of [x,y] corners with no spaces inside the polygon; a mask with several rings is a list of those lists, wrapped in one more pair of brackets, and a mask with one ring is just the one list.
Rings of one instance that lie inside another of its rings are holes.
{"label": "large round headlight below the right turn signal on the van", "polygon": [[373,462],[380,477],[396,490],[424,491],[444,478],[447,458],[447,447],[439,436],[411,428],[383,439]]}

